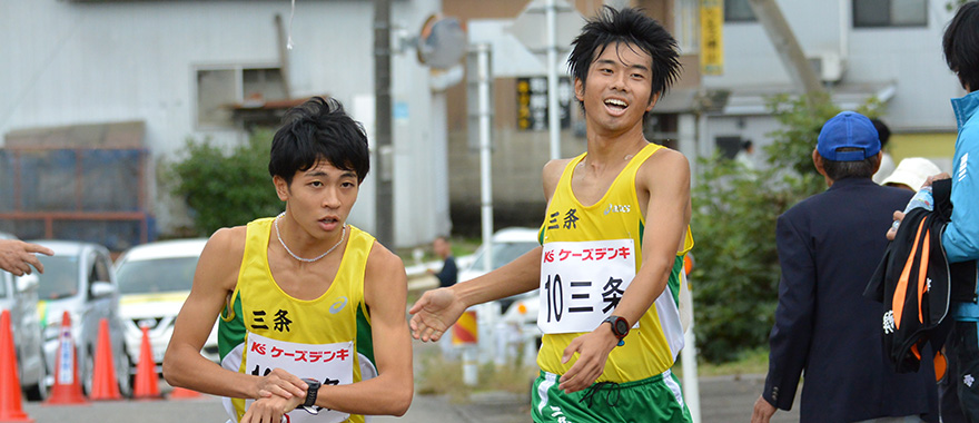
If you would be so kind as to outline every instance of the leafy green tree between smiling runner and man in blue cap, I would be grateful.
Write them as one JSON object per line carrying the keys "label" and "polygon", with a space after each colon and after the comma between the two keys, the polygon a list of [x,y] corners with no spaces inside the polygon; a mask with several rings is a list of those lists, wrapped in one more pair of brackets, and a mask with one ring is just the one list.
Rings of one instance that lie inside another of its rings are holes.
{"label": "leafy green tree between smiling runner and man in blue cap", "polygon": [[[782,129],[770,134],[768,166],[755,170],[734,160],[702,158],[692,193],[695,329],[701,355],[714,363],[767,345],[780,274],[775,220],[825,189],[812,150],[822,124],[840,109],[824,94],[778,96],[769,107]],[[876,116],[879,107],[871,100],[858,111]]]}

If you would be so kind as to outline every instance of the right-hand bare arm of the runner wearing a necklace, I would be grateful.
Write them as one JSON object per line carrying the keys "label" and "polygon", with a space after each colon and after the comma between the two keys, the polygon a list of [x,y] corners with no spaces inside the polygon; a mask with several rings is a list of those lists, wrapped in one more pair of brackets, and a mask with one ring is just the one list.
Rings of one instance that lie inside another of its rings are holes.
{"label": "right-hand bare arm of the runner wearing a necklace", "polygon": [[352,414],[405,414],[414,392],[407,295],[408,278],[400,258],[375,243],[367,258],[364,297],[378,375],[349,385],[320,386],[316,405]]}

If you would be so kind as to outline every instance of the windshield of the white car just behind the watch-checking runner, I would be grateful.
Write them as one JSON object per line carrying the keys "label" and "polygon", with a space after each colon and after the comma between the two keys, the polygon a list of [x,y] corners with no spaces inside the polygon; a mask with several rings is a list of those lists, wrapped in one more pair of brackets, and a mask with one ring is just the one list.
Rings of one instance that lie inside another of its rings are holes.
{"label": "windshield of the white car just behind the watch-checking runner", "polygon": [[126,262],[116,270],[120,294],[190,291],[198,257]]}

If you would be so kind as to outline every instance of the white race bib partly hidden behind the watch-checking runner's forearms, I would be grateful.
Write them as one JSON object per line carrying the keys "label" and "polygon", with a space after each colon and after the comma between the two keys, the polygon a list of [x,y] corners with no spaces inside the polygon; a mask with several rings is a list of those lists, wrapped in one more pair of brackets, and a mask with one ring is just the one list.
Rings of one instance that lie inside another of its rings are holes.
{"label": "white race bib partly hidden behind the watch-checking runner's forearms", "polygon": [[[277,341],[254,333],[248,334],[248,353],[245,358],[246,371],[264,376],[273,368],[281,368],[299,377],[315,378],[324,385],[347,385],[354,383],[354,342],[335,344],[298,344]],[[245,402],[245,410],[253,400]],[[322,409],[313,415],[301,407],[289,412],[284,421],[289,423],[338,423],[347,420],[349,413]]]}

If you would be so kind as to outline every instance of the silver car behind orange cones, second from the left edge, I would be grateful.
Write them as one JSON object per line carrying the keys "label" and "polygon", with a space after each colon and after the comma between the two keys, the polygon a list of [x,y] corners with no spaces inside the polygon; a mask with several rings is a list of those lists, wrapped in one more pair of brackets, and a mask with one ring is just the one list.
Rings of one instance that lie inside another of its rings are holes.
{"label": "silver car behind orange cones, second from the left edge", "polygon": [[71,317],[71,337],[78,357],[81,387],[91,393],[91,382],[102,318],[109,323],[116,381],[123,396],[130,394],[132,362],[126,352],[122,324],[119,319],[119,288],[109,250],[97,244],[73,240],[34,240],[55,250],[38,256],[44,265],[39,275],[39,312],[43,316],[44,352],[48,384],[55,381],[55,356],[58,351],[61,321],[67,311]]}

